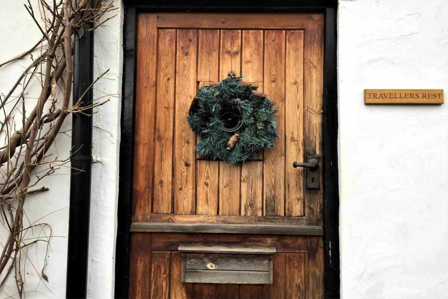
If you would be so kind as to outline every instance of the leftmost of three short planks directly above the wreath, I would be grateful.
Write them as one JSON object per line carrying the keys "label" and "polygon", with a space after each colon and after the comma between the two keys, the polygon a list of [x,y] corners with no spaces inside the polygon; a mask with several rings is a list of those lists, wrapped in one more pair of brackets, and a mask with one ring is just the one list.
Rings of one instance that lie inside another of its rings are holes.
{"label": "leftmost of three short planks directly above the wreath", "polygon": [[198,81],[218,81],[219,46],[219,30],[199,30]]}

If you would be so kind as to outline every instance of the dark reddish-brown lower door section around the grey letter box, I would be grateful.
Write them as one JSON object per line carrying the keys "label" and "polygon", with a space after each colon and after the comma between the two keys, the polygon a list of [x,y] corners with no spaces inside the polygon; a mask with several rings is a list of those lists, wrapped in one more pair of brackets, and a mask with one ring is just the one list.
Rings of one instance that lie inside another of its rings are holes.
{"label": "dark reddish-brown lower door section around the grey letter box", "polygon": [[[274,245],[277,254],[272,259],[273,282],[265,285],[183,283],[182,257],[177,252],[179,243]],[[144,264],[135,254],[131,255],[131,264],[139,265],[138,271],[131,269],[129,277],[131,298],[316,299],[323,296],[320,236],[133,233],[131,245],[146,253]]]}

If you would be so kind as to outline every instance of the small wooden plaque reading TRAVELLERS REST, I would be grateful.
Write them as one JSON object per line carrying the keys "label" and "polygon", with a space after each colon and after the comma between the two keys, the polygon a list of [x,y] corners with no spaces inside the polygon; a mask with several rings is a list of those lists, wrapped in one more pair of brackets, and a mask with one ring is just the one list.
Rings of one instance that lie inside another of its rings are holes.
{"label": "small wooden plaque reading TRAVELLERS REST", "polygon": [[364,104],[443,104],[443,89],[365,89]]}

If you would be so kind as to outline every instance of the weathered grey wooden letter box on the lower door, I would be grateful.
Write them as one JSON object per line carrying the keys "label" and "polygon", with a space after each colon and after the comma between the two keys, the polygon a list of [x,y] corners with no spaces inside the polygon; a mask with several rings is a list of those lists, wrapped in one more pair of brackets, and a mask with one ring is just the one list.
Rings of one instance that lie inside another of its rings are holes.
{"label": "weathered grey wooden letter box on the lower door", "polygon": [[183,253],[182,282],[272,283],[274,246],[224,247],[179,245]]}

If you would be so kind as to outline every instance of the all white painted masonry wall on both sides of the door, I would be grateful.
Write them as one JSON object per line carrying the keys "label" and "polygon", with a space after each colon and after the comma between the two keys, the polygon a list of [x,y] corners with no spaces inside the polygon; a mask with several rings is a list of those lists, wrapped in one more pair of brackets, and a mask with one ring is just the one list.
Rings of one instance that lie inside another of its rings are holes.
{"label": "all white painted masonry wall on both sides of the door", "polygon": [[[107,77],[114,80],[96,87],[121,95],[124,10],[121,1],[114,3],[119,9],[108,16],[118,15],[95,32],[95,75],[110,68]],[[0,7],[5,61],[29,48],[39,32],[23,1],[0,0]],[[0,69],[0,92],[15,81],[20,65]],[[364,88],[443,88],[447,95],[448,1],[340,0],[338,78],[341,296],[448,298],[448,103],[363,104]],[[112,98],[94,116],[89,298],[113,297],[114,262],[121,258],[115,256],[120,107],[121,97]],[[63,156],[70,139],[61,137],[56,145]],[[41,220],[61,237],[52,239],[47,254],[49,290],[27,266],[29,299],[65,297],[69,176],[44,185],[50,191],[29,197],[27,216],[33,222],[62,209]],[[39,271],[45,246],[28,249],[34,260],[37,254]],[[7,282],[0,298],[14,288]]]}

